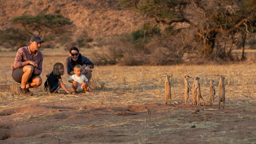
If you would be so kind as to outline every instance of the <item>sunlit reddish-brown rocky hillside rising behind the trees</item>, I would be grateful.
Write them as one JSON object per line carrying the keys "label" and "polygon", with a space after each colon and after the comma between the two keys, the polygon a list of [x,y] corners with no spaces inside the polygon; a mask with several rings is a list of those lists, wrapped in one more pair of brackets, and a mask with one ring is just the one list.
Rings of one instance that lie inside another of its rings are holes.
{"label": "sunlit reddish-brown rocky hillside rising behind the trees", "polygon": [[75,35],[87,32],[98,38],[130,33],[140,28],[143,17],[118,5],[118,0],[0,0],[0,30],[12,27],[14,16],[59,13],[76,26]]}

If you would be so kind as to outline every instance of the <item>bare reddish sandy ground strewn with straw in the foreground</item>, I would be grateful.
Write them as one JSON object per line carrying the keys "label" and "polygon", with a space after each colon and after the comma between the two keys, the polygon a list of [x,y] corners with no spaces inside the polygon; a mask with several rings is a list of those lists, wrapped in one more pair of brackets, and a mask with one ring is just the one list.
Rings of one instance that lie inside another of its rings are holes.
{"label": "bare reddish sandy ground strewn with straw in the foreground", "polygon": [[[255,112],[190,104],[0,102],[0,143],[255,143]],[[49,115],[49,108],[54,115]],[[151,111],[149,114],[148,110]],[[33,117],[30,117],[32,111]],[[215,124],[209,128],[202,128]]]}

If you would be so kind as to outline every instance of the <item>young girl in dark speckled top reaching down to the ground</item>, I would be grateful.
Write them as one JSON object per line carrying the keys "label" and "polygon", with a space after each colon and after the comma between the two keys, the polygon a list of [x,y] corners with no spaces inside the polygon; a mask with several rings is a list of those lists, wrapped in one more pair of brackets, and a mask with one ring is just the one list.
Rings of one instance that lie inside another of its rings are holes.
{"label": "young girl in dark speckled top reaching down to the ground", "polygon": [[68,94],[70,94],[70,92],[68,91],[68,89],[66,88],[66,86],[63,84],[62,80],[61,80],[61,76],[64,73],[64,66],[63,64],[61,64],[60,62],[57,62],[54,64],[53,66],[53,71],[50,74],[47,74],[47,80],[44,83],[44,88],[46,91],[49,90],[49,92],[53,93],[53,92],[57,92],[60,87],[62,87]]}

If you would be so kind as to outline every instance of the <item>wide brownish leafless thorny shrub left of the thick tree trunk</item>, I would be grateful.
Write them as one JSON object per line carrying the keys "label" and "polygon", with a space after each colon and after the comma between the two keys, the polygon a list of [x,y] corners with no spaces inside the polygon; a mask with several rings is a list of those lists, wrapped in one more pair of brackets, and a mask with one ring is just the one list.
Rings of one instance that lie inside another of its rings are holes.
{"label": "wide brownish leafless thorny shrub left of the thick tree trunk", "polygon": [[[133,34],[134,35],[134,34]],[[188,33],[159,40],[157,35],[146,37],[146,42],[134,40],[133,35],[117,35],[106,37],[99,42],[102,49],[94,53],[97,65],[170,65],[190,58],[191,35]],[[145,41],[145,40],[143,40]],[[186,57],[184,54],[188,53]]]}

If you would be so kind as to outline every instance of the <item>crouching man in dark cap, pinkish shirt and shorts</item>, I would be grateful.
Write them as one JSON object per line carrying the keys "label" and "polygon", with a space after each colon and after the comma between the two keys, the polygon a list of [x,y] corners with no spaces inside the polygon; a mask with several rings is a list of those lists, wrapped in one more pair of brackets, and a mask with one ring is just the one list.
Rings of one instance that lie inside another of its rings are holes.
{"label": "crouching man in dark cap, pinkish shirt and shorts", "polygon": [[42,84],[40,74],[42,72],[43,54],[39,51],[44,42],[39,36],[30,38],[28,47],[19,48],[12,66],[12,78],[20,83],[19,93],[33,95],[29,88],[36,88]]}

